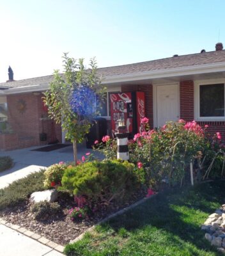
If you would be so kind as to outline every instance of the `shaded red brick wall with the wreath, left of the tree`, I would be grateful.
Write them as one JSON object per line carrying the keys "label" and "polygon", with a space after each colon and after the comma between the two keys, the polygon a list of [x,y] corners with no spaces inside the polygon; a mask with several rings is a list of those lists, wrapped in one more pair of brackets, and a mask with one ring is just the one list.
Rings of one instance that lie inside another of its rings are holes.
{"label": "shaded red brick wall with the wreath, left of the tree", "polygon": [[[52,140],[52,120],[47,120],[43,109],[42,94],[22,93],[8,95],[8,122],[17,134],[18,147],[45,145]],[[19,101],[26,104],[24,111],[19,110]],[[61,142],[61,125],[55,125],[53,136]],[[40,141],[40,133],[47,133],[47,141]]]}

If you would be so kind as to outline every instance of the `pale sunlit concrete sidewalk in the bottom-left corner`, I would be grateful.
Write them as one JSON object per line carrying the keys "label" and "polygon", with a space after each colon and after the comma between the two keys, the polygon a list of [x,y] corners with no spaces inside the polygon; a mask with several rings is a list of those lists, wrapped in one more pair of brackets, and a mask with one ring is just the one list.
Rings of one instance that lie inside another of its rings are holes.
{"label": "pale sunlit concrete sidewalk in the bottom-left corner", "polygon": [[3,256],[62,256],[49,246],[0,224],[0,255]]}

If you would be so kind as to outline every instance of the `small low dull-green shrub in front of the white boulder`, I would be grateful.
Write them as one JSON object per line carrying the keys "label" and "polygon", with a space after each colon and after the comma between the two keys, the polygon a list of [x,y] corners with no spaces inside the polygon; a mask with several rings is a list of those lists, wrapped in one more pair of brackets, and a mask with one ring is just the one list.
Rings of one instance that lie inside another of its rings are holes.
{"label": "small low dull-green shrub in front of the white boulder", "polygon": [[46,220],[49,216],[56,216],[60,211],[60,205],[57,202],[39,202],[31,205],[31,212],[35,220]]}

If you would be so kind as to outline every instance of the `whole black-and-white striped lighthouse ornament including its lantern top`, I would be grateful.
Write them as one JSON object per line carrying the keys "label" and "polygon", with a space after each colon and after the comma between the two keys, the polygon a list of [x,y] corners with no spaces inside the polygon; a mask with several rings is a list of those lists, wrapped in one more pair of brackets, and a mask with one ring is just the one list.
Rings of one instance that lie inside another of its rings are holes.
{"label": "whole black-and-white striped lighthouse ornament including its lantern top", "polygon": [[128,132],[124,120],[118,120],[118,132],[115,134],[117,138],[117,159],[129,160],[128,151]]}

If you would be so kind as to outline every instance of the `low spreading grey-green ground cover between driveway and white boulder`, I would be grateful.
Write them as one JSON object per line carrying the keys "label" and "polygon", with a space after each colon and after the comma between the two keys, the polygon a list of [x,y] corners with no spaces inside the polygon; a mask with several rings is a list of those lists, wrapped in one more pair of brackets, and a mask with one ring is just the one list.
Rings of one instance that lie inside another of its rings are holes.
{"label": "low spreading grey-green ground cover between driveway and white boulder", "polygon": [[14,181],[8,187],[0,189],[0,211],[6,207],[18,205],[27,200],[35,191],[42,191],[44,170],[29,174],[23,179]]}

